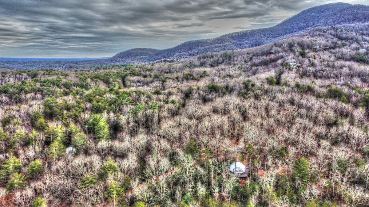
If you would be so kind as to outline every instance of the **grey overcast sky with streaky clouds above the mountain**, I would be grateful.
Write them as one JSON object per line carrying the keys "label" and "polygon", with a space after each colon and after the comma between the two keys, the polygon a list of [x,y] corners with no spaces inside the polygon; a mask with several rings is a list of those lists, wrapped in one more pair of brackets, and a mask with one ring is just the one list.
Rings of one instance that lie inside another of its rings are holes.
{"label": "grey overcast sky with streaky clouds above the mountain", "polygon": [[[110,57],[272,27],[330,0],[0,0],[0,57]],[[340,2],[369,5],[369,0]]]}

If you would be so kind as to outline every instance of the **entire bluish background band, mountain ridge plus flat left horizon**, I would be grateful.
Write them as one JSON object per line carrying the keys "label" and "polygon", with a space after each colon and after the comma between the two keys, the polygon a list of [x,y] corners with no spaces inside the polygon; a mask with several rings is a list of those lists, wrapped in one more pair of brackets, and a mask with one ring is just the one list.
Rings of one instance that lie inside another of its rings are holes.
{"label": "entire bluish background band, mountain ridge plus flat left horizon", "polygon": [[158,60],[182,60],[210,52],[251,48],[299,34],[315,27],[369,22],[369,6],[331,3],[312,7],[290,17],[274,27],[234,32],[218,38],[184,42],[173,48],[158,50],[136,48],[120,52],[107,59],[6,59],[0,67],[7,68],[73,68],[101,64],[142,64]]}

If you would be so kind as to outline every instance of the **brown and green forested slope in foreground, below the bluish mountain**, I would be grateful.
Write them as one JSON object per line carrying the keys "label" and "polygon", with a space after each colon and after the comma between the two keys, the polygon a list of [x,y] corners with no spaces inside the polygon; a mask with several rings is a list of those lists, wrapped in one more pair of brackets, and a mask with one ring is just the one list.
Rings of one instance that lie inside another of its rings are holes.
{"label": "brown and green forested slope in foreground, below the bluish mountain", "polygon": [[175,63],[2,72],[0,206],[369,206],[369,24],[339,27]]}

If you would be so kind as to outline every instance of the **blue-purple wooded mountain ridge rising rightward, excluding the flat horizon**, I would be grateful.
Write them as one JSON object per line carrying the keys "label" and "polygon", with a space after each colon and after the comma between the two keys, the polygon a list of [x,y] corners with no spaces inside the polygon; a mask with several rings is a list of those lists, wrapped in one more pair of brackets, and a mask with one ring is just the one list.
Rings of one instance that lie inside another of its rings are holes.
{"label": "blue-purple wooded mountain ridge rising rightward, excluding the flat horizon", "polygon": [[235,50],[264,45],[283,36],[318,26],[335,26],[369,22],[369,6],[331,3],[312,7],[274,27],[234,32],[212,39],[184,42],[169,49],[136,48],[120,52],[108,62],[148,63],[162,59],[184,59],[209,52]]}

